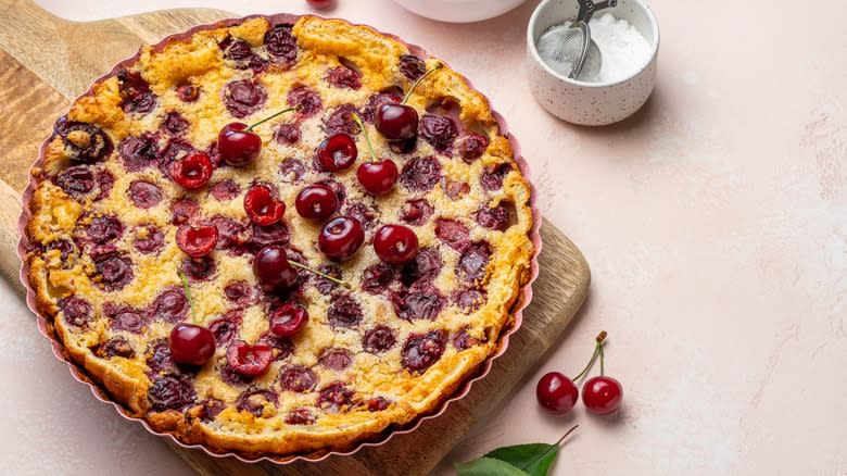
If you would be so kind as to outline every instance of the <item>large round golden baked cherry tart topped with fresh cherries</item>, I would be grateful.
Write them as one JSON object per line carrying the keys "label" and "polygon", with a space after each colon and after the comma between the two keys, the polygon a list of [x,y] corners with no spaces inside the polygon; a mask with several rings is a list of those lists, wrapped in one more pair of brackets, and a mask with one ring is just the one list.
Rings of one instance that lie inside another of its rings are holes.
{"label": "large round golden baked cherry tart topped with fresh cherries", "polygon": [[535,251],[488,100],[308,15],[142,48],[56,121],[30,191],[25,268],[65,358],[154,430],[249,458],[437,412],[501,350]]}

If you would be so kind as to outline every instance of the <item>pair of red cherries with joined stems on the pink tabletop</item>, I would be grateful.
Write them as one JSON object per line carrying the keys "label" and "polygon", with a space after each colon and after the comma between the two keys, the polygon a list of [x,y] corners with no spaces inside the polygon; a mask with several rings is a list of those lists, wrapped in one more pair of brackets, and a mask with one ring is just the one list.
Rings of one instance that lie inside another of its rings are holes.
{"label": "pair of red cherries with joined stems on the pink tabletop", "polygon": [[591,355],[589,364],[573,379],[559,372],[549,372],[541,377],[535,387],[535,398],[544,410],[562,414],[573,409],[579,400],[579,390],[573,383],[589,373],[597,356],[601,361],[601,375],[585,380],[582,386],[582,403],[590,412],[598,415],[608,415],[618,410],[621,400],[623,400],[623,388],[620,381],[604,375],[603,341],[606,336],[605,330],[597,336],[594,353]]}

